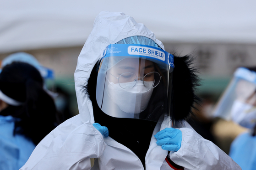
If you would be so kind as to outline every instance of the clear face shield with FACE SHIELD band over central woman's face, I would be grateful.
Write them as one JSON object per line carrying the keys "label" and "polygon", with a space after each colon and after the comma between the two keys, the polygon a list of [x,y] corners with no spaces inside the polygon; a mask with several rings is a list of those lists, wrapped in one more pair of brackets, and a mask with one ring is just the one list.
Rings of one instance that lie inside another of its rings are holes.
{"label": "clear face shield with FACE SHIELD band over central woman's face", "polygon": [[173,56],[159,48],[109,45],[99,63],[99,108],[116,118],[157,122],[163,114],[171,116],[173,68]]}

